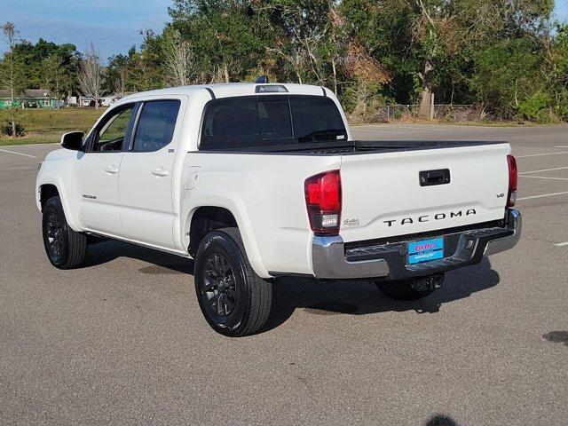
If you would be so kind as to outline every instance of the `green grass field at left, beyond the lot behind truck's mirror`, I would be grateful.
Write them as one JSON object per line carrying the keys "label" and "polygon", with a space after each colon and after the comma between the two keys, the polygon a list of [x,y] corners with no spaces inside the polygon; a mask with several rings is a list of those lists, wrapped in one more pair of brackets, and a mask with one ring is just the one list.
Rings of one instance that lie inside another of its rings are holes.
{"label": "green grass field at left, beyond the lot behind truck's mirror", "polygon": [[[24,126],[25,136],[0,136],[0,146],[57,143],[67,131],[90,130],[104,111],[104,108],[20,109],[16,122]],[[0,124],[4,125],[9,118],[9,111],[0,110]]]}

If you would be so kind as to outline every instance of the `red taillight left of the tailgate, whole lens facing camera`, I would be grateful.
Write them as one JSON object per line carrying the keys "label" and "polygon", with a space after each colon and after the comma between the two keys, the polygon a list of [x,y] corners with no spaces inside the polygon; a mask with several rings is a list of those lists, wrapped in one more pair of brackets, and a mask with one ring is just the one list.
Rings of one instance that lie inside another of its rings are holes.
{"label": "red taillight left of the tailgate, whole lens facing camera", "polygon": [[304,183],[305,205],[316,235],[339,234],[341,177],[339,170],[308,177]]}

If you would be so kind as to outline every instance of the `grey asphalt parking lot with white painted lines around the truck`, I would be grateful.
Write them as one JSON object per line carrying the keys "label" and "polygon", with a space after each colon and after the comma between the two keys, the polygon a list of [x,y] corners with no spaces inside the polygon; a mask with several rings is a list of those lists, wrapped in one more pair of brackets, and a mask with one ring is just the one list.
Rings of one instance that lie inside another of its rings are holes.
{"label": "grey asphalt parking lot with white painted lines around the truck", "polygon": [[57,146],[0,146],[0,424],[566,424],[568,127],[355,135],[508,140],[522,240],[415,302],[281,280],[241,339],[207,326],[182,258],[109,241],[51,267],[34,185]]}

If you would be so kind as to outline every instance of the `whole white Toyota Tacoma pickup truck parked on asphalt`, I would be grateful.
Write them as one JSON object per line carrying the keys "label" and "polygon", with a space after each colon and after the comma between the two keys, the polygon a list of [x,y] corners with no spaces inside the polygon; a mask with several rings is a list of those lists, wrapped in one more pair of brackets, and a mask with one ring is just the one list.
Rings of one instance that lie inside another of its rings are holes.
{"label": "whole white Toyota Tacoma pickup truck parked on asphalt", "polygon": [[409,299],[521,233],[507,143],[355,141],[331,91],[241,83],[148,91],[40,165],[43,242],[60,269],[92,241],[194,259],[205,319],[264,326],[274,279],[371,280]]}

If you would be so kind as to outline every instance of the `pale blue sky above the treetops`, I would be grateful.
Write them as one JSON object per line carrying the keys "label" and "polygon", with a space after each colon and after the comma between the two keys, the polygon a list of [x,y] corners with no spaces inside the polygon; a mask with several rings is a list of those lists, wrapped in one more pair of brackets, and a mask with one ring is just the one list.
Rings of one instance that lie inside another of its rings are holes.
{"label": "pale blue sky above the treetops", "polygon": [[[142,42],[140,30],[160,33],[170,20],[170,0],[0,0],[0,23],[12,21],[20,38],[36,43],[73,43],[85,51],[89,43],[106,59]],[[556,0],[556,16],[568,20],[568,0]],[[4,51],[4,40],[0,51]]]}

